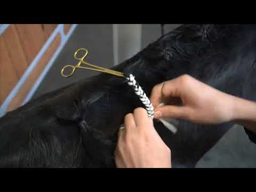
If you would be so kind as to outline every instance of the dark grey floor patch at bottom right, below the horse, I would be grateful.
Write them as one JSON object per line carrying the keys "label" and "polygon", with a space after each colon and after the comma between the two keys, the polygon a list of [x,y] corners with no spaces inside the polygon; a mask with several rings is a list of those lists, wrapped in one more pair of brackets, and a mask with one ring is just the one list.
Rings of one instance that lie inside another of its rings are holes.
{"label": "dark grey floor patch at bottom right, below the horse", "polygon": [[242,126],[235,125],[204,155],[196,167],[256,167],[256,145]]}

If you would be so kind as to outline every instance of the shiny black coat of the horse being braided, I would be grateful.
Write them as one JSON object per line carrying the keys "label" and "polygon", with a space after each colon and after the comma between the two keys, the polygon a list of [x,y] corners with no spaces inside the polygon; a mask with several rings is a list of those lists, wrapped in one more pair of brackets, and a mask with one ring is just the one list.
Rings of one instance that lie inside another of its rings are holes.
{"label": "shiny black coat of the horse being braided", "polygon": [[[256,25],[183,25],[114,69],[135,75],[147,95],[154,85],[189,74],[256,100],[255,51]],[[115,166],[119,125],[141,106],[125,78],[108,74],[45,94],[0,119],[0,166]],[[174,167],[195,166],[232,125],[180,121],[173,135],[154,123]]]}

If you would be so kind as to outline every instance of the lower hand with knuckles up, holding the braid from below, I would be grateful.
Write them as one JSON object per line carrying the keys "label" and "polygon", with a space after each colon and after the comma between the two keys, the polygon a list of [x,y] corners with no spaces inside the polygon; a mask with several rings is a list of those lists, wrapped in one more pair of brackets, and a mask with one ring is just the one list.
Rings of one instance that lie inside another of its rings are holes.
{"label": "lower hand with knuckles up, holding the braid from below", "polygon": [[169,167],[171,150],[159,137],[153,118],[147,111],[137,108],[124,119],[124,129],[119,131],[115,153],[117,167]]}

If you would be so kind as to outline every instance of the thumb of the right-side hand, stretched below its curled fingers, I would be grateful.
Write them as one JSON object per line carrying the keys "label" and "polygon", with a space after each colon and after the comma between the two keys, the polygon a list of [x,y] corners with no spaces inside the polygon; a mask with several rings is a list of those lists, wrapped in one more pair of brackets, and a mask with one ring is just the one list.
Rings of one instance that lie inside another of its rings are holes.
{"label": "thumb of the right-side hand, stretched below its curled fingers", "polygon": [[161,106],[155,109],[155,118],[179,118],[187,119],[189,110],[185,106]]}

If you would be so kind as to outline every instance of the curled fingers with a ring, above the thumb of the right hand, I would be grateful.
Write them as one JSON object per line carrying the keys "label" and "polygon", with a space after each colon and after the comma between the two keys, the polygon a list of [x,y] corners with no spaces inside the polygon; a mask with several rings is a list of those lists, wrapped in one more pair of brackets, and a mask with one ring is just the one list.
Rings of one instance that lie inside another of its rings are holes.
{"label": "curled fingers with a ring, above the thumb of the right hand", "polygon": [[170,102],[170,97],[179,98],[178,89],[179,83],[177,78],[154,86],[150,95],[150,101],[153,107],[156,108],[162,102]]}

